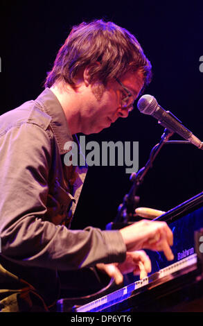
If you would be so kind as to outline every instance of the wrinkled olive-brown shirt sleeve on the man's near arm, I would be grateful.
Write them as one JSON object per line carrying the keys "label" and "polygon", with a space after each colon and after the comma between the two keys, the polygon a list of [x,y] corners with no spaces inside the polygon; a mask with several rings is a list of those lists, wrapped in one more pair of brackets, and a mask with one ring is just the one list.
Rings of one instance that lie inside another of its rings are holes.
{"label": "wrinkled olive-brown shirt sleeve on the man's near arm", "polygon": [[1,255],[18,264],[74,270],[98,262],[121,262],[125,243],[118,231],[69,230],[44,220],[51,167],[51,139],[33,123],[0,138]]}

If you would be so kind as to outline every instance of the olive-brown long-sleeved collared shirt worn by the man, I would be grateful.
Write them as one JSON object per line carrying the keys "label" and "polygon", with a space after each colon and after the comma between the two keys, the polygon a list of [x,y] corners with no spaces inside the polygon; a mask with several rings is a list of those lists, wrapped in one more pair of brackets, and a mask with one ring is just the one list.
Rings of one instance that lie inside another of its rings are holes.
{"label": "olive-brown long-sleeved collared shirt worn by the man", "polygon": [[48,88],[0,117],[0,263],[48,301],[59,291],[58,271],[125,259],[120,232],[69,229],[87,173],[64,164],[72,139]]}

